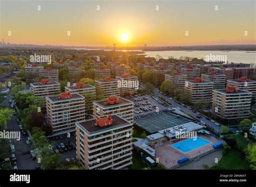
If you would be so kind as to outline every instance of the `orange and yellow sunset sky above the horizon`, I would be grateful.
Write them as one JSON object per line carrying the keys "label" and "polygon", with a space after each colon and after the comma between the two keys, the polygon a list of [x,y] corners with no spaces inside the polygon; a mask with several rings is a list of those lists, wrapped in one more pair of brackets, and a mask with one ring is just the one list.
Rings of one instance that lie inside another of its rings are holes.
{"label": "orange and yellow sunset sky above the horizon", "polygon": [[[15,44],[256,44],[255,1],[0,0],[0,38]],[[40,6],[41,10],[38,10]],[[218,9],[218,10],[216,10]],[[122,39],[122,34],[125,35]]]}

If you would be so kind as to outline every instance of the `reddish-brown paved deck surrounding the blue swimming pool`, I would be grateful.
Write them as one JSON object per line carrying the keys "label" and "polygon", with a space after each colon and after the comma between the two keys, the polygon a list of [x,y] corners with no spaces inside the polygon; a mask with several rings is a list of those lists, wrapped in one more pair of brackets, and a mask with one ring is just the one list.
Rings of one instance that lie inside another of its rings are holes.
{"label": "reddish-brown paved deck surrounding the blue swimming pool", "polygon": [[156,150],[156,157],[159,159],[160,163],[165,165],[166,168],[172,168],[178,164],[177,163],[178,159],[181,159],[184,156],[188,157],[188,159],[197,157],[200,154],[203,154],[212,150],[213,143],[220,141],[211,135],[198,135],[198,136],[207,141],[210,141],[211,143],[203,147],[199,147],[197,149],[191,150],[188,153],[182,153],[178,149],[175,149],[170,145],[177,143],[179,141],[183,141],[184,139],[180,139],[179,141],[175,141],[175,142],[165,142],[164,145],[154,148]]}

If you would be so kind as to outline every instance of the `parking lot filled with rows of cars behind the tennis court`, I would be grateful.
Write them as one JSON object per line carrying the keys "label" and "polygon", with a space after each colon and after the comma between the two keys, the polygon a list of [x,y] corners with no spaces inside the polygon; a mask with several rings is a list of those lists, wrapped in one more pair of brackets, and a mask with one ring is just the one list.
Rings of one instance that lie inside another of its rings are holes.
{"label": "parking lot filled with rows of cars behind the tennis court", "polygon": [[149,116],[153,112],[159,112],[166,110],[170,105],[164,103],[159,98],[146,94],[146,95],[136,95],[133,98],[134,103],[134,119]]}

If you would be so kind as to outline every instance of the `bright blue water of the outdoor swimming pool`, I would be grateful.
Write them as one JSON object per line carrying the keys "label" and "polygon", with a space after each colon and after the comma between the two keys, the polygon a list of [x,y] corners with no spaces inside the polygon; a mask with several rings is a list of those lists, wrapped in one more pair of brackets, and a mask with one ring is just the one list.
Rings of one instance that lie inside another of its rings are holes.
{"label": "bright blue water of the outdoor swimming pool", "polygon": [[186,153],[199,147],[203,147],[210,143],[210,141],[207,141],[197,136],[197,140],[193,140],[193,138],[191,138],[184,141],[180,141],[178,143],[174,143],[171,146],[178,149],[180,152]]}

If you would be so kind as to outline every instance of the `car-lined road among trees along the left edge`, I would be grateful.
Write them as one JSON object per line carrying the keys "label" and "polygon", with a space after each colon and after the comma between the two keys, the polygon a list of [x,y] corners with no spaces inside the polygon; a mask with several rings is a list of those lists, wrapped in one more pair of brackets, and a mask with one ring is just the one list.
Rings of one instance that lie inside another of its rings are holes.
{"label": "car-lined road among trees along the left edge", "polygon": [[[3,100],[2,105],[11,109],[11,105],[9,104],[10,95],[7,95],[7,98]],[[7,124],[8,131],[16,131],[19,132],[19,127],[17,123],[16,116],[12,116],[11,120]],[[18,169],[35,169],[36,164],[34,160],[31,160],[30,150],[31,146],[26,144],[26,136],[21,134],[21,140],[11,139],[12,144],[15,146],[15,155],[17,159]]]}

